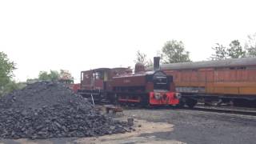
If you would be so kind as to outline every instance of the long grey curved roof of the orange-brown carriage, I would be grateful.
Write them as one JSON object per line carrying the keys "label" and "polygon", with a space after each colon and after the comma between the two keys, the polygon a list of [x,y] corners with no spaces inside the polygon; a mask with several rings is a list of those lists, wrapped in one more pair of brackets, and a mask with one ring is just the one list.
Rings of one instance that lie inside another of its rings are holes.
{"label": "long grey curved roof of the orange-brown carriage", "polygon": [[[211,67],[235,67],[235,66],[256,66],[256,58],[229,58],[216,61],[182,62],[162,64],[161,70],[186,70]],[[148,70],[153,70],[150,67]]]}

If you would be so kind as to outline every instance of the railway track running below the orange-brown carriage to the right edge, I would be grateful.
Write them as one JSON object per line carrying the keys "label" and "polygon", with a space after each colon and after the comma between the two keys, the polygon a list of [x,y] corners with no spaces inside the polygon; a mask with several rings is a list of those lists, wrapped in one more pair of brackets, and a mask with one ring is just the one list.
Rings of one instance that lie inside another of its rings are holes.
{"label": "railway track running below the orange-brown carriage to the right edge", "polygon": [[139,109],[151,109],[151,110],[177,110],[182,112],[181,114],[192,115],[204,119],[221,120],[223,122],[235,122],[238,125],[256,126],[256,109],[245,110],[244,108],[232,107],[216,107],[216,106],[195,106],[193,109],[188,107],[172,108],[168,106],[158,106],[150,108],[142,108],[138,106],[123,107],[124,110],[139,110]]}

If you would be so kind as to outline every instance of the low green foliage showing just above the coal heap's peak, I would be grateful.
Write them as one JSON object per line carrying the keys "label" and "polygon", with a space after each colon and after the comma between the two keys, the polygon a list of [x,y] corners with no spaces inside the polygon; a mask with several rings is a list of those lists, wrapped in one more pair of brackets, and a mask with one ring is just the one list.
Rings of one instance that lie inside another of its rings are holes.
{"label": "low green foliage showing just above the coal heap's peak", "polygon": [[58,81],[59,77],[60,75],[56,70],[50,70],[49,74],[47,71],[40,71],[38,74],[38,80],[42,81]]}

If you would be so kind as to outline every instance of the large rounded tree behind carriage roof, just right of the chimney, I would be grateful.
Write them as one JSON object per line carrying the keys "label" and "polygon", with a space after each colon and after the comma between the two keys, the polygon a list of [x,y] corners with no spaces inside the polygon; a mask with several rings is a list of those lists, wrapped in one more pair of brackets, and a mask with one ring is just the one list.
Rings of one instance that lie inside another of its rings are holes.
{"label": "large rounded tree behind carriage roof, just right of the chimney", "polygon": [[163,63],[191,62],[190,53],[185,50],[182,41],[171,40],[162,47]]}

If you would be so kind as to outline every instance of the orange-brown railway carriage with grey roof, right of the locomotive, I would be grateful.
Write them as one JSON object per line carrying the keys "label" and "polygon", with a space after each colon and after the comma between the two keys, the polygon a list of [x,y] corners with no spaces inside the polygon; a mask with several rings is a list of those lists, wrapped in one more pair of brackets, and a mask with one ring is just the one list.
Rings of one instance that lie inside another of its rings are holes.
{"label": "orange-brown railway carriage with grey roof, right of the locomotive", "polygon": [[256,58],[164,64],[161,70],[174,77],[177,92],[190,107],[199,99],[256,106]]}

